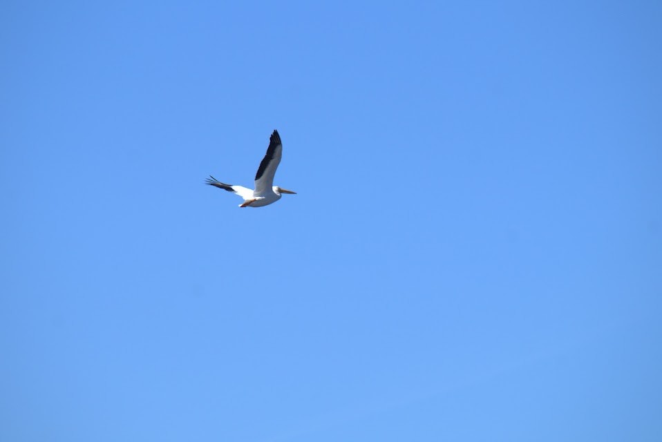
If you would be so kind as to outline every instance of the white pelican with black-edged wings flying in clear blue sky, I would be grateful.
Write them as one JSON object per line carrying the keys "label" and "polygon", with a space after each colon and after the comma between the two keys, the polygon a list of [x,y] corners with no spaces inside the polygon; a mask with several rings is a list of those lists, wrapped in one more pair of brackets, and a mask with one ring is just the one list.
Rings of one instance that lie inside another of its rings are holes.
{"label": "white pelican with black-edged wings flying in clear blue sky", "polygon": [[296,193],[282,187],[274,186],[274,175],[276,175],[276,169],[281,162],[282,155],[283,144],[281,144],[281,136],[278,135],[278,131],[274,131],[269,138],[267,153],[262,159],[260,167],[258,167],[258,173],[255,174],[255,190],[244,186],[225,184],[216,180],[211,175],[207,178],[207,184],[239,195],[244,199],[244,202],[239,204],[240,207],[267,206],[272,204],[272,202],[280,200],[283,193]]}

